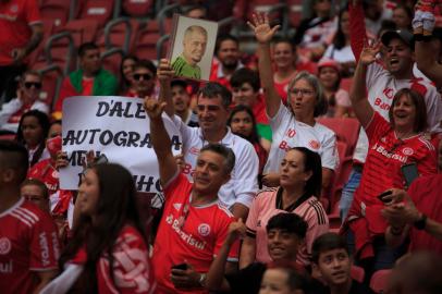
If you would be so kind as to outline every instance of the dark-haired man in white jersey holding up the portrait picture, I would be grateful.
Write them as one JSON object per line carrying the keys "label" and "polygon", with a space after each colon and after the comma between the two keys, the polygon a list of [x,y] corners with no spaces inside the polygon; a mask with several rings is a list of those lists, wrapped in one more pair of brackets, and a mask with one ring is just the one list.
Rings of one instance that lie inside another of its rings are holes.
{"label": "dark-haired man in white jersey holding up the portrait picture", "polygon": [[169,61],[159,64],[160,99],[167,101],[165,112],[183,137],[185,166],[183,173],[192,181],[200,149],[209,143],[219,143],[233,150],[236,162],[229,182],[222,185],[219,197],[236,218],[247,218],[248,207],[258,189],[258,156],[246,139],[232,134],[226,126],[232,94],[218,83],[206,84],[198,93],[197,114],[200,127],[189,127],[174,114],[170,95],[173,71]]}

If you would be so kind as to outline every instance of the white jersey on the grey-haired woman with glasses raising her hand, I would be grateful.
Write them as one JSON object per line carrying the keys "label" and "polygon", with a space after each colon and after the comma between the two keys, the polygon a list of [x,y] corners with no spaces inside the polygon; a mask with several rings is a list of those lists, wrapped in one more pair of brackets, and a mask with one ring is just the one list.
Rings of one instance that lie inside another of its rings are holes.
{"label": "white jersey on the grey-haired woman with glasses raising her hand", "polygon": [[333,131],[319,123],[312,127],[296,121],[295,115],[282,102],[278,113],[269,118],[269,122],[273,137],[265,173],[279,172],[281,160],[293,147],[306,147],[318,152],[323,168],[334,170],[337,167],[339,157],[334,151],[336,137]]}

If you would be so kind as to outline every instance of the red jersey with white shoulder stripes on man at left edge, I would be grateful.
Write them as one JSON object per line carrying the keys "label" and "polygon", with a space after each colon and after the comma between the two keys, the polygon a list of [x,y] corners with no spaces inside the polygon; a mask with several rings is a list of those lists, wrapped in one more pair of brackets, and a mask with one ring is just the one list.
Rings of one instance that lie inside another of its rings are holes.
{"label": "red jersey with white shoulder stripes on man at left edge", "polygon": [[59,252],[51,217],[21,198],[0,215],[0,292],[33,293],[35,272],[57,269]]}

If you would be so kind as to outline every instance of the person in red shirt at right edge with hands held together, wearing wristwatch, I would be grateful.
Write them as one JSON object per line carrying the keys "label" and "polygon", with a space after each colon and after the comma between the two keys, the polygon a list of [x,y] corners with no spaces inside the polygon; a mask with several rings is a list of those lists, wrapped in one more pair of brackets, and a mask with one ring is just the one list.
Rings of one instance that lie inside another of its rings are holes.
{"label": "person in red shirt at right edge with hands held together, wearing wristwatch", "polygon": [[442,254],[442,139],[438,154],[438,174],[416,179],[407,192],[392,189],[388,196],[394,203],[382,211],[390,223],[385,232],[389,245],[398,246],[409,235],[409,252]]}

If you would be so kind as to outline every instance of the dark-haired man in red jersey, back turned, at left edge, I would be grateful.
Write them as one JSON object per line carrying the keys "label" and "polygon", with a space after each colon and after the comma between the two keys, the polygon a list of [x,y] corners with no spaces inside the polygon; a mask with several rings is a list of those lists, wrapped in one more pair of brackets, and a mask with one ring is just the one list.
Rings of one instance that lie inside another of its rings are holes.
{"label": "dark-haired man in red jersey, back turned, at left edge", "polygon": [[0,290],[38,293],[57,273],[59,241],[47,212],[24,201],[27,150],[0,140]]}

